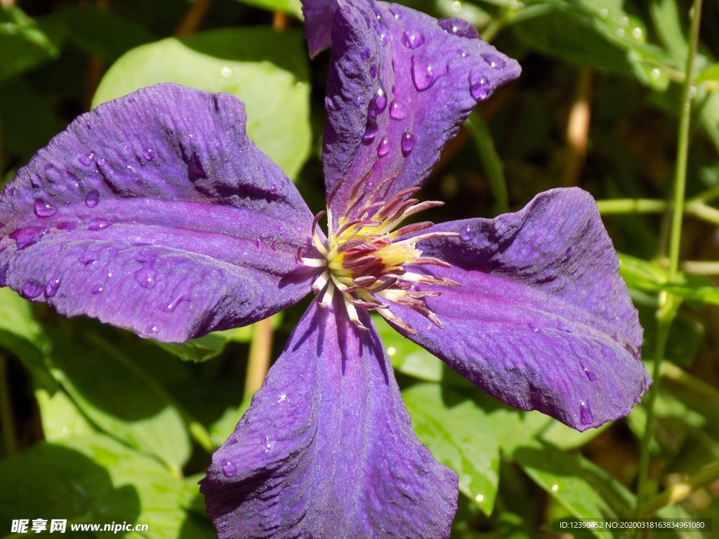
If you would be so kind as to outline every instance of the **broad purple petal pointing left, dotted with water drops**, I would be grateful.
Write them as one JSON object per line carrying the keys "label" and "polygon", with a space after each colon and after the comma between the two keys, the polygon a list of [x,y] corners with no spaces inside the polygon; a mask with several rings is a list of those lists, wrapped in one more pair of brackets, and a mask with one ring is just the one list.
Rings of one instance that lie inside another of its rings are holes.
{"label": "broad purple petal pointing left, dotted with water drops", "polygon": [[171,84],[78,117],[0,195],[0,285],[161,341],[296,302],[312,215],[244,125]]}

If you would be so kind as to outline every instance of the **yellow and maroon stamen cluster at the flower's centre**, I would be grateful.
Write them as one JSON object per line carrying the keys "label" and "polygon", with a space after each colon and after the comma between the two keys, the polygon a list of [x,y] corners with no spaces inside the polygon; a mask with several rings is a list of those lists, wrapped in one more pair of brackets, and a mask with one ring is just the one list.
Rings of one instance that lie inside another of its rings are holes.
{"label": "yellow and maroon stamen cluster at the flower's centre", "polygon": [[[335,290],[339,290],[342,292],[349,318],[360,329],[367,328],[359,321],[356,307],[376,310],[388,321],[408,333],[416,334],[412,326],[390,311],[390,303],[416,310],[436,326],[442,327],[439,319],[424,302],[424,298],[438,296],[440,292],[415,290],[415,286],[420,282],[446,286],[456,286],[459,283],[411,272],[409,269],[411,266],[425,264],[449,267],[449,264],[434,257],[423,257],[416,244],[423,239],[458,234],[416,234],[429,229],[432,226],[429,221],[397,229],[408,216],[426,208],[441,206],[441,202],[420,203],[416,198],[410,198],[418,189],[405,189],[385,201],[375,201],[375,189],[364,197],[364,206],[360,206],[362,197],[354,193],[350,196],[344,215],[337,220],[336,230],[333,230],[329,216],[327,244],[320,241],[313,229],[312,243],[324,255],[324,259],[298,259],[303,264],[325,268],[312,285],[316,292],[324,290],[321,306],[328,307],[334,298]],[[320,216],[321,214],[316,217],[315,226]]]}

